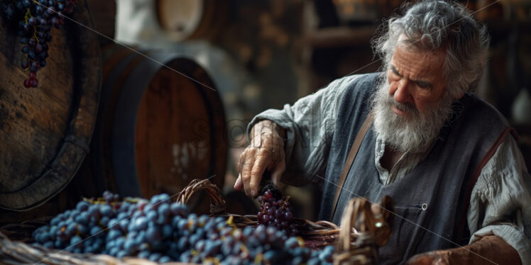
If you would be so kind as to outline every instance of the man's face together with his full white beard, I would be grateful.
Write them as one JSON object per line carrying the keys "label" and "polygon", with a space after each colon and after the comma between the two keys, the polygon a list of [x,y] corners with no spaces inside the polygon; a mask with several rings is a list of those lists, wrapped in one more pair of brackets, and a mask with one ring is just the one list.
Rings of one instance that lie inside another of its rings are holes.
{"label": "man's face together with his full white beard", "polygon": [[395,48],[373,100],[374,129],[390,147],[422,151],[439,135],[454,101],[442,74],[445,52]]}

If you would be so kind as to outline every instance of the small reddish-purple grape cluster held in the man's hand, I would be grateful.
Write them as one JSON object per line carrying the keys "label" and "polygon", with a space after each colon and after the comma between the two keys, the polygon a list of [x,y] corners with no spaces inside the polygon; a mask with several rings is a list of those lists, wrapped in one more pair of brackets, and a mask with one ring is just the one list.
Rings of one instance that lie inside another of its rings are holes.
{"label": "small reddish-purple grape cluster held in the man's hand", "polygon": [[297,235],[299,230],[297,225],[292,223],[292,208],[289,197],[280,198],[273,191],[265,191],[263,196],[258,196],[260,211],[256,215],[258,225],[275,226],[280,230],[288,232],[288,235]]}

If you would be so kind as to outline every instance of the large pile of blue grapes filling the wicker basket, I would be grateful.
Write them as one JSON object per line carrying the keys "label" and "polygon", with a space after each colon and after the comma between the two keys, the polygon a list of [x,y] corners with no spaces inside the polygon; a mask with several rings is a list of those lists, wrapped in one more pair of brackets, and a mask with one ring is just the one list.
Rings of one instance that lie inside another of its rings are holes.
{"label": "large pile of blue grapes filling the wicker basket", "polygon": [[33,232],[38,244],[75,253],[138,256],[165,263],[332,264],[334,247],[312,251],[277,227],[237,228],[232,218],[198,216],[160,194],[150,201],[109,192],[84,200]]}

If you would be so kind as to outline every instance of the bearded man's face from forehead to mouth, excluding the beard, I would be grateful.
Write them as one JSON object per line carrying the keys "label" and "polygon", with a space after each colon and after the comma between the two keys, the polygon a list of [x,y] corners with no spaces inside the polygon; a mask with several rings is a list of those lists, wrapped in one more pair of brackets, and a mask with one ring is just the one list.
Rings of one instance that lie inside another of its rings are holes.
{"label": "bearded man's face from forehead to mouth, excluding the beard", "polygon": [[444,50],[418,51],[407,45],[396,47],[387,79],[389,96],[395,100],[393,112],[411,118],[412,112],[426,113],[442,98],[446,86],[442,75],[446,53]]}

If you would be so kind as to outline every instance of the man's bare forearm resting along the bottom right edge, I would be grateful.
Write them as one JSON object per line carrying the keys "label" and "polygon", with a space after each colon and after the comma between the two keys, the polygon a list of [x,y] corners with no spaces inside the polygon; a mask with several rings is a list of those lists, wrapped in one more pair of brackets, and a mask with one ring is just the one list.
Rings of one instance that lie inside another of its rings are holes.
{"label": "man's bare forearm resting along the bottom right edge", "polygon": [[466,247],[412,256],[406,265],[521,264],[520,256],[501,237],[489,235]]}

